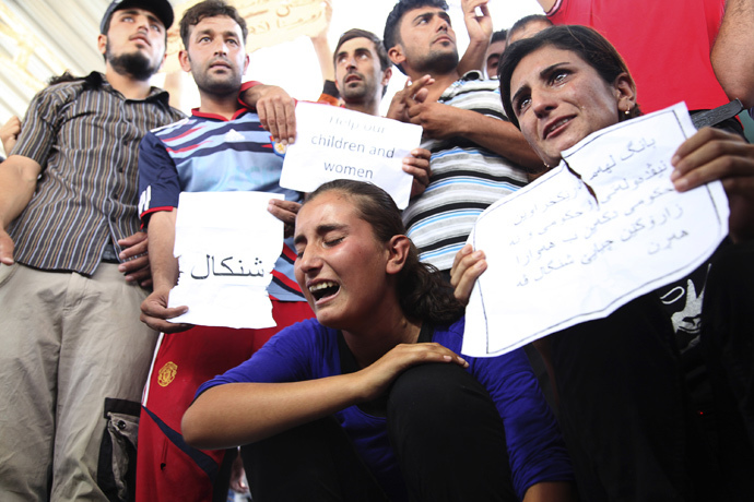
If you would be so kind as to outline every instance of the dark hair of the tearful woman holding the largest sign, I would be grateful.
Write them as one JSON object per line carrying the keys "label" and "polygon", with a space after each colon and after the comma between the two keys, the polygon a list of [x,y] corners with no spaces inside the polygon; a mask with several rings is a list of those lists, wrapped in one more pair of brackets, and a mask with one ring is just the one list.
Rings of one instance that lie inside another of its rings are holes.
{"label": "dark hair of the tearful woman holding the largest sign", "polygon": [[[587,26],[552,26],[541,31],[531,38],[518,40],[505,49],[497,67],[497,76],[500,82],[503,108],[505,108],[508,119],[519,129],[521,127],[510,103],[510,77],[518,63],[521,62],[521,59],[546,46],[576,52],[608,84],[613,84],[621,73],[631,75],[628,67],[626,67],[625,61],[617,53],[615,47],[597,31]],[[637,104],[628,115],[621,113],[618,120],[632,119],[640,115],[641,111]]]}

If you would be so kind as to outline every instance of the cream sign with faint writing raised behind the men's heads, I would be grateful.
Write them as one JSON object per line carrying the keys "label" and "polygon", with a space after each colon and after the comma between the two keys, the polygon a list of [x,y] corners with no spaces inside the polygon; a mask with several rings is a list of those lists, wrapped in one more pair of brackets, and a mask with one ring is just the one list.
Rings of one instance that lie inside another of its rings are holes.
{"label": "cream sign with faint writing raised behind the men's heads", "polygon": [[[178,20],[184,13],[201,0],[186,0],[175,5],[176,22],[167,31],[167,58],[162,71],[172,73],[180,71],[178,51],[184,48],[180,39]],[[176,3],[176,2],[174,2]],[[254,52],[262,47],[272,47],[301,36],[315,36],[325,29],[325,3],[321,0],[229,0],[238,10],[249,35],[246,37],[246,50]]]}

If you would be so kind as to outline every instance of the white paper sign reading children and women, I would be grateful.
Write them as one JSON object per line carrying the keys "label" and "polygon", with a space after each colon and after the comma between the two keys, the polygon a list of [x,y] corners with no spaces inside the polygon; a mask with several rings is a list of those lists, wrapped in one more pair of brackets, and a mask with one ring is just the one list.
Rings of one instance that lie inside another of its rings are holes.
{"label": "white paper sign reading children and women", "polygon": [[411,175],[403,157],[422,128],[329,105],[296,105],[296,142],[288,146],[280,186],[313,192],[326,181],[352,179],[384,189],[399,208],[409,205]]}

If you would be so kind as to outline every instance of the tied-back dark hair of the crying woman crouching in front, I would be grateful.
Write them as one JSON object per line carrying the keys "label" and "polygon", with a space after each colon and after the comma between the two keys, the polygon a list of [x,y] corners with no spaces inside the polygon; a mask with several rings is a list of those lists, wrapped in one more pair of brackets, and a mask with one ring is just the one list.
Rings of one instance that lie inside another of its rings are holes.
{"label": "tied-back dark hair of the crying woman crouching in front", "polygon": [[[372,226],[380,242],[405,235],[401,212],[392,198],[379,187],[353,180],[334,180],[320,186],[306,200],[337,191],[354,201],[358,217]],[[398,301],[407,318],[435,325],[450,324],[463,315],[464,307],[453,296],[452,287],[434,266],[419,261],[419,250],[411,242],[409,255],[398,273]]]}

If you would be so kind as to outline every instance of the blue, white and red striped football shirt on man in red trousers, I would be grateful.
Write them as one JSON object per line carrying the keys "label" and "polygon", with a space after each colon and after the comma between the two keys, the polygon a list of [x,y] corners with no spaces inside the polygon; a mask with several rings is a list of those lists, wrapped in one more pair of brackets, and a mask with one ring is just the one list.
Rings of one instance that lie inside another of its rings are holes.
{"label": "blue, white and red striped football shirt on man in red trousers", "polygon": [[[180,192],[259,191],[301,202],[298,192],[280,187],[284,154],[273,144],[259,116],[238,110],[232,120],[201,113],[155,129],[139,147],[139,215],[149,224],[156,211],[178,206]],[[306,301],[296,283],[293,238],[285,239],[268,292],[282,301]]]}

